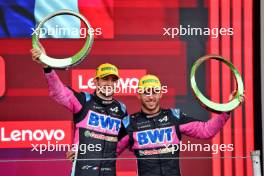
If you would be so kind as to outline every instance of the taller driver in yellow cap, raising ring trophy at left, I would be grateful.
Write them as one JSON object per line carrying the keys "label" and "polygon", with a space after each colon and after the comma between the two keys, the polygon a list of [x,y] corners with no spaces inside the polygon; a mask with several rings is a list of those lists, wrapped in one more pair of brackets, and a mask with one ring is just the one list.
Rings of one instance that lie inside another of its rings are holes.
{"label": "taller driver in yellow cap, raising ring trophy at left", "polygon": [[[40,63],[41,51],[32,49],[31,53],[32,59]],[[114,158],[117,143],[126,134],[122,119],[127,116],[125,105],[113,98],[114,87],[119,79],[117,67],[109,63],[97,67],[94,79],[96,90],[93,94],[72,90],[61,82],[52,68],[47,65],[43,67],[50,96],[74,114],[74,144],[79,148],[87,146],[87,151],[83,153],[80,150],[76,153],[67,152],[67,158],[75,158],[71,175],[115,176]]]}

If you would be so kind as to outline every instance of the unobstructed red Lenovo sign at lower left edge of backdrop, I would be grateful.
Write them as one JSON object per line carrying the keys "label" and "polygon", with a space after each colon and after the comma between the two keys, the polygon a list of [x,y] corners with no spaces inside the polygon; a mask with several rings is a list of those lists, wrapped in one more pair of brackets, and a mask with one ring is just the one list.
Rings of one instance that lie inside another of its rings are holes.
{"label": "unobstructed red Lenovo sign at lower left edge of backdrop", "polygon": [[0,122],[0,148],[30,148],[48,142],[70,144],[71,125],[71,121]]}

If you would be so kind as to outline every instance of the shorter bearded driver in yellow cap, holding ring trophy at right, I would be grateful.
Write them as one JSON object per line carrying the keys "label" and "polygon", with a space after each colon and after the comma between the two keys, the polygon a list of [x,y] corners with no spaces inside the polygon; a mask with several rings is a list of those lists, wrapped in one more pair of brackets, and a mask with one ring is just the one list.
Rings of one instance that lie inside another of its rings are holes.
{"label": "shorter bearded driver in yellow cap, holding ring trophy at right", "polygon": [[[141,111],[123,119],[128,135],[118,144],[118,152],[130,147],[138,159],[139,176],[180,176],[179,146],[181,135],[199,139],[214,137],[229,119],[229,112],[207,122],[185,115],[180,109],[162,109],[161,84],[154,75],[139,81]],[[244,100],[241,97],[241,102]],[[172,159],[170,159],[172,158]]]}

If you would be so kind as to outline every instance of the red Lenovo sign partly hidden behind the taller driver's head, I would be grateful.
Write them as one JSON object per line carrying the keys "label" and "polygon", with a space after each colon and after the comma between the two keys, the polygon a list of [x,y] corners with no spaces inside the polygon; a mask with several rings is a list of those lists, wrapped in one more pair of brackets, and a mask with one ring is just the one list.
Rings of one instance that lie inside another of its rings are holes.
{"label": "red Lenovo sign partly hidden behind the taller driver's head", "polygon": [[[136,95],[140,77],[147,73],[146,70],[119,70],[120,79],[116,86],[117,95]],[[95,90],[93,78],[95,70],[72,70],[72,88],[76,91]]]}

